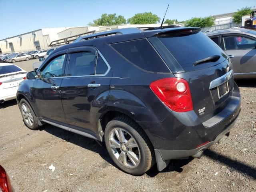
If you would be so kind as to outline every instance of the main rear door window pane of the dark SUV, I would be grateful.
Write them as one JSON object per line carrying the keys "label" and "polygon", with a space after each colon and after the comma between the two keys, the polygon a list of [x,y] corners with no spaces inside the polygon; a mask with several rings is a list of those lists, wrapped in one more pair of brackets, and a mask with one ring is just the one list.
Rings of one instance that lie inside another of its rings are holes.
{"label": "main rear door window pane of the dark SUV", "polygon": [[92,52],[70,54],[68,76],[94,75],[96,55]]}

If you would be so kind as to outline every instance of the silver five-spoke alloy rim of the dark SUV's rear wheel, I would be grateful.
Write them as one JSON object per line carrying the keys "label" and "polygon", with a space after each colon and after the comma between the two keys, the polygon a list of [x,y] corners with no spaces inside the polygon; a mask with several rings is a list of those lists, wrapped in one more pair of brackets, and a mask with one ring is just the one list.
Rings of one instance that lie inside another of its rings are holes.
{"label": "silver five-spoke alloy rim of the dark SUV's rear wheel", "polygon": [[114,128],[109,134],[109,146],[118,162],[127,168],[140,164],[140,149],[134,137],[122,128]]}

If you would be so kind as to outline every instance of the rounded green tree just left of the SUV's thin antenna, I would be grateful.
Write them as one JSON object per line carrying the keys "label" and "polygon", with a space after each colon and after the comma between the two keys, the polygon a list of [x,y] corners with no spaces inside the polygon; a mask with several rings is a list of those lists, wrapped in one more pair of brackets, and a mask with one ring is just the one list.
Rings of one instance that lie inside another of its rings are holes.
{"label": "rounded green tree just left of the SUV's thin antenna", "polygon": [[130,24],[155,24],[160,22],[160,17],[152,12],[137,13],[127,20]]}

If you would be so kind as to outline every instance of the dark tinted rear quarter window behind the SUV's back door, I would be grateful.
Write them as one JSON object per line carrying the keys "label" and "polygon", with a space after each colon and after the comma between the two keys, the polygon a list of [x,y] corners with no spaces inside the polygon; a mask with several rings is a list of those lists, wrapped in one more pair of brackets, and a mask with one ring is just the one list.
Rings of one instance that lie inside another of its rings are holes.
{"label": "dark tinted rear quarter window behind the SUV's back door", "polygon": [[152,72],[170,72],[146,39],[111,45],[136,66]]}

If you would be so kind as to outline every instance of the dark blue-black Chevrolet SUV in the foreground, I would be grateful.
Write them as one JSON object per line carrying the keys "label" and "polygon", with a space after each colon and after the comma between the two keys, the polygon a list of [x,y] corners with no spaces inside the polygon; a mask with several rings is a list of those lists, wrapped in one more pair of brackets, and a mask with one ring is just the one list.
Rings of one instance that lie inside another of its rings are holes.
{"label": "dark blue-black Chevrolet SUV in the foreground", "polygon": [[240,113],[230,58],[200,30],[118,29],[54,50],[18,88],[26,126],[48,123],[105,142],[133,175],[200,158]]}

